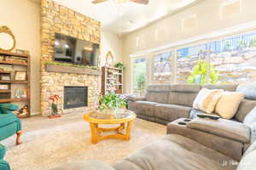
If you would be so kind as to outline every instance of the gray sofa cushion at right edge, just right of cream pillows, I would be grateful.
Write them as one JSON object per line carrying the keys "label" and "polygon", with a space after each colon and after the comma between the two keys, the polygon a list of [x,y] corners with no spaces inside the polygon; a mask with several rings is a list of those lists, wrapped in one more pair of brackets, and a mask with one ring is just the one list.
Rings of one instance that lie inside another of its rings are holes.
{"label": "gray sofa cushion at right edge, just right of cream pillows", "polygon": [[256,100],[251,99],[243,99],[241,100],[241,104],[238,107],[238,110],[236,112],[236,120],[238,122],[243,122],[245,116],[247,116],[247,113],[252,111],[253,108],[256,106]]}

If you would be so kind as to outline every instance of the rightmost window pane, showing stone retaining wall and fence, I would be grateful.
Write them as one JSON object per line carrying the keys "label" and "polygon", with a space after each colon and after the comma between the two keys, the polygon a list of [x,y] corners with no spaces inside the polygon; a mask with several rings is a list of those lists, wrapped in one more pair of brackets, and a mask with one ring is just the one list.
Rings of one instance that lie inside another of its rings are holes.
{"label": "rightmost window pane, showing stone retaining wall and fence", "polygon": [[218,83],[256,81],[256,33],[210,42]]}

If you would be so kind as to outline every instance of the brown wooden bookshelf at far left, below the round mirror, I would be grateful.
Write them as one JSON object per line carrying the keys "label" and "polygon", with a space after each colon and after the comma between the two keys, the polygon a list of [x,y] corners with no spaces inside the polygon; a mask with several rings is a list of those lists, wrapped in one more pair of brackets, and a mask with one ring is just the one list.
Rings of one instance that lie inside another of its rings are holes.
{"label": "brown wooden bookshelf at far left, below the round mirror", "polygon": [[17,116],[31,116],[30,55],[0,51],[0,103],[15,103],[26,108]]}

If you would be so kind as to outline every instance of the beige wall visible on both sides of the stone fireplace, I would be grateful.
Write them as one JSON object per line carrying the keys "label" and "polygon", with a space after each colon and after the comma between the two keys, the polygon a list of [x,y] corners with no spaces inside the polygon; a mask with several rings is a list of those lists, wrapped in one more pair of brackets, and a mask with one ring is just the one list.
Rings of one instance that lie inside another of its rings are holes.
{"label": "beige wall visible on both sides of the stone fireplace", "polygon": [[[40,4],[29,0],[0,0],[0,26],[9,26],[16,37],[16,48],[27,49],[32,55],[32,115],[40,114]],[[121,60],[119,38],[102,31],[102,65],[108,50],[116,61]]]}

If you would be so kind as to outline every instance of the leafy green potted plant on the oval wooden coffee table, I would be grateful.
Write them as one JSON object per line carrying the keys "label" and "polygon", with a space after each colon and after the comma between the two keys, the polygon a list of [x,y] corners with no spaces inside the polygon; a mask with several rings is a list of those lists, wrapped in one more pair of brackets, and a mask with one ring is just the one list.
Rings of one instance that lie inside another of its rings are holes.
{"label": "leafy green potted plant on the oval wooden coffee table", "polygon": [[100,99],[100,110],[107,113],[115,113],[119,108],[124,108],[127,104],[124,99],[121,99],[117,94],[106,94]]}

